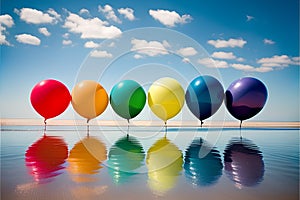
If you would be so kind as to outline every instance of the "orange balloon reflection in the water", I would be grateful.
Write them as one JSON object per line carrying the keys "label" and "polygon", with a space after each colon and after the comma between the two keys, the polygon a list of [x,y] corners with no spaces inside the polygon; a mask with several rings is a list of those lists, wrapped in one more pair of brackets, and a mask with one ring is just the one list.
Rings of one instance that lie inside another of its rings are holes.
{"label": "orange balloon reflection in the water", "polygon": [[95,181],[92,174],[98,173],[106,160],[106,146],[95,137],[86,137],[74,145],[68,158],[68,171],[75,182]]}

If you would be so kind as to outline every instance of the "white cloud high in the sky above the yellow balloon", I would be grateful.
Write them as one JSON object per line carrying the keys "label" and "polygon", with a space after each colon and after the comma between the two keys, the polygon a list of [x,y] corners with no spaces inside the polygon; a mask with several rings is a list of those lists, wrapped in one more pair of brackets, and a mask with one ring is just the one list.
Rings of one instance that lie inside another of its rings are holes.
{"label": "white cloud high in the sky above the yellow balloon", "polygon": [[149,10],[149,14],[155,20],[168,27],[174,27],[176,24],[186,24],[193,19],[190,15],[180,16],[177,12],[169,10]]}

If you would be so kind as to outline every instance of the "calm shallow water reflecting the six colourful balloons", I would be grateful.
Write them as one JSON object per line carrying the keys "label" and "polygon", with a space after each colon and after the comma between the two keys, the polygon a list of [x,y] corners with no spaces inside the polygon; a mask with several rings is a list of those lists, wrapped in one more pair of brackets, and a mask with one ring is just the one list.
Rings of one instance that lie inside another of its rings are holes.
{"label": "calm shallow water reflecting the six colourful balloons", "polygon": [[299,199],[299,129],[85,129],[1,127],[1,199]]}

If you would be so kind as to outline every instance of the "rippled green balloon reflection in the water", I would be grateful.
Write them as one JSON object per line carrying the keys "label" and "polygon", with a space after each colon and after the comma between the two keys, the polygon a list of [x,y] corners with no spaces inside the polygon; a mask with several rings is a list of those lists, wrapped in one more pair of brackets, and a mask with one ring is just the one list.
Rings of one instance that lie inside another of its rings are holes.
{"label": "rippled green balloon reflection in the water", "polygon": [[109,173],[115,184],[123,184],[143,165],[145,151],[140,142],[132,137],[120,138],[109,150]]}

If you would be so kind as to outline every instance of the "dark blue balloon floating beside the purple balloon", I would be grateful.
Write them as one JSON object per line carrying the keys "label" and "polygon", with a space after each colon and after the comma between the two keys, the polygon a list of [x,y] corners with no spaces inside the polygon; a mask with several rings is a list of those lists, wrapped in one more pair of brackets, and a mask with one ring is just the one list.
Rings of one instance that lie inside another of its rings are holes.
{"label": "dark blue balloon floating beside the purple balloon", "polygon": [[217,112],[223,99],[223,86],[212,76],[195,78],[189,84],[185,94],[188,108],[201,123]]}

